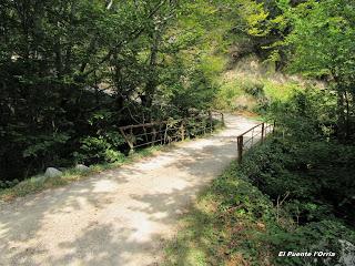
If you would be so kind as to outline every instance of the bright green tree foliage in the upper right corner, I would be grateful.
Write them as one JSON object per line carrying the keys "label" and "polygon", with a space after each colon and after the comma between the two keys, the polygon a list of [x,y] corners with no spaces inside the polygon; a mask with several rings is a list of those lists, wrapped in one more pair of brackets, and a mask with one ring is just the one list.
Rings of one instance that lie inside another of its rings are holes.
{"label": "bright green tree foliage in the upper right corner", "polygon": [[321,76],[333,75],[352,82],[355,38],[354,3],[344,0],[306,1],[288,8],[285,14],[293,20],[287,42],[294,47],[293,69]]}

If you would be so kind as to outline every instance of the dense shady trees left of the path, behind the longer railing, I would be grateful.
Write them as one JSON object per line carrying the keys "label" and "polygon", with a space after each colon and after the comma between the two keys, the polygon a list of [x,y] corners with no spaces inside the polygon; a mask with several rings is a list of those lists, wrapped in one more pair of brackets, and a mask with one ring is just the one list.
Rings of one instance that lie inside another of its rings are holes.
{"label": "dense shady trees left of the path, behind the longer railing", "polygon": [[215,12],[205,1],[2,1],[0,180],[121,160],[102,132],[209,108],[229,29]]}

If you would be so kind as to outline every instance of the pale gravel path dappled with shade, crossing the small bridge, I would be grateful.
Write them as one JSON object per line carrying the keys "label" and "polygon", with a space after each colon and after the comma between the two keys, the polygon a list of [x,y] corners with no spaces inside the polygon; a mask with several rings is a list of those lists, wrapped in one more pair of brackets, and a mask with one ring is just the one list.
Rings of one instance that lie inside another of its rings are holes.
{"label": "pale gravel path dappled with shade, crossing the small bridge", "polygon": [[213,136],[0,206],[0,265],[159,265],[196,193],[236,156],[255,122],[226,115]]}

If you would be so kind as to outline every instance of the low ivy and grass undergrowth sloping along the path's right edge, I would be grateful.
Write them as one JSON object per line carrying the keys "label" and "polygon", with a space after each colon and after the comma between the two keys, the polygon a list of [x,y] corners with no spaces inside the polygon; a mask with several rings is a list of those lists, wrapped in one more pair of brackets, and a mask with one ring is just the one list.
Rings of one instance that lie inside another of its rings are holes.
{"label": "low ivy and grass undergrowth sloping along the path's right edge", "polygon": [[[282,158],[288,152],[283,147],[270,141],[215,180],[182,218],[166,247],[165,265],[335,265],[341,242],[354,243],[354,231],[336,212],[324,212],[328,203],[316,198],[308,176],[302,184],[302,175],[283,167],[294,163],[292,155]],[[336,256],[327,264],[314,257],[278,257],[288,250]]]}

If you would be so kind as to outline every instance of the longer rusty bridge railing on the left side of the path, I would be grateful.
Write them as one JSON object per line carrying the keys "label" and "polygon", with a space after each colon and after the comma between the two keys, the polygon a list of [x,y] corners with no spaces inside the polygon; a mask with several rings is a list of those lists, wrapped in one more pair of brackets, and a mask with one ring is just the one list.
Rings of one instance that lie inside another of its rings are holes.
{"label": "longer rusty bridge railing on the left side of the path", "polygon": [[217,124],[224,125],[223,113],[209,111],[206,115],[126,125],[119,127],[119,130],[129,145],[130,152],[133,152],[138,147],[170,144],[186,137],[212,133]]}

